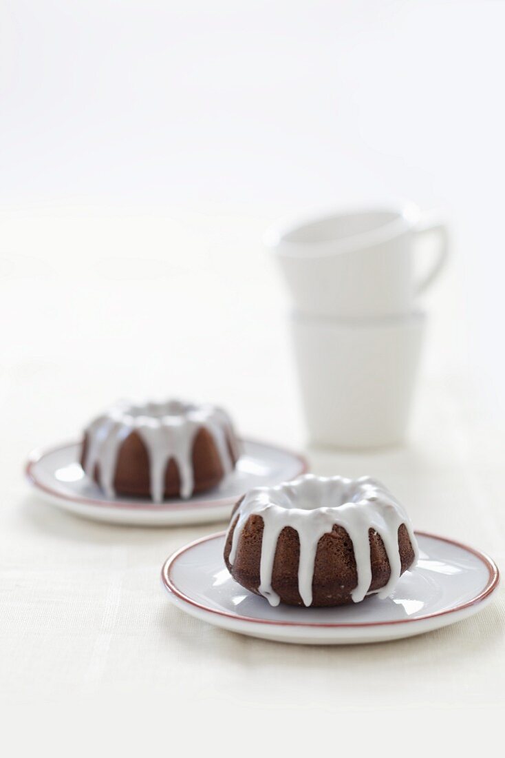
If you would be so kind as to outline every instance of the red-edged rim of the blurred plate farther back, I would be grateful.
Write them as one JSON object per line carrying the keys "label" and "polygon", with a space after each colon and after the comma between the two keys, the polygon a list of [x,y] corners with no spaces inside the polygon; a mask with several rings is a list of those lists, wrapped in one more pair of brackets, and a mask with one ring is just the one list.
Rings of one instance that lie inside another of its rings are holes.
{"label": "red-edged rim of the blurred plate farther back", "polygon": [[[297,476],[300,476],[302,474],[306,474],[309,470],[309,464],[307,461],[307,458],[305,458],[302,453],[297,453],[295,450],[291,450],[287,447],[283,447],[282,445],[276,445],[271,444],[267,442],[263,442],[262,440],[256,440],[252,439],[251,437],[241,437],[240,441],[242,443],[252,443],[254,445],[261,445],[263,447],[268,447],[270,449],[274,449],[279,451],[280,453],[286,453],[289,456],[292,456],[293,458],[297,459],[301,466],[301,471],[298,472]],[[72,442],[67,443],[60,443],[59,445],[51,445],[48,447],[36,447],[33,449],[26,459],[26,463],[24,465],[24,475],[25,478],[28,480],[29,484],[34,487],[36,490],[42,490],[42,492],[50,495],[51,497],[55,497],[58,500],[61,500],[63,502],[69,502],[70,503],[79,503],[80,505],[84,506],[95,506],[97,508],[114,508],[118,510],[134,510],[134,511],[151,511],[151,512],[177,512],[177,511],[183,511],[186,507],[190,506],[192,511],[198,510],[198,509],[207,509],[207,508],[220,508],[224,506],[232,505],[232,503],[235,503],[236,497],[235,495],[232,497],[222,497],[219,500],[198,500],[197,502],[193,501],[191,498],[189,500],[180,500],[173,503],[152,503],[151,500],[129,500],[127,502],[117,502],[117,500],[100,500],[100,499],[92,499],[89,497],[79,496],[79,495],[63,495],[58,490],[53,489],[52,487],[48,487],[48,485],[43,484],[39,479],[36,478],[34,468],[37,463],[39,463],[42,458],[45,456],[51,455],[52,453],[58,453],[58,451],[66,449],[67,447],[72,447],[74,445],[79,445],[80,440],[73,440]],[[77,462],[77,461],[76,461]]]}

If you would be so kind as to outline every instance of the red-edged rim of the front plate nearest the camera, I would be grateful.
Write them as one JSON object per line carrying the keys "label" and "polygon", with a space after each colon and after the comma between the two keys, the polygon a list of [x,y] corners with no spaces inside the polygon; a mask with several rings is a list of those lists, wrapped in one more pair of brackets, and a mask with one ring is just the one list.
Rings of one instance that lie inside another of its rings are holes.
{"label": "red-edged rim of the front plate nearest the camera", "polygon": [[305,628],[305,629],[320,629],[320,628],[331,628],[331,629],[360,629],[360,628],[371,628],[371,627],[385,627],[385,626],[397,626],[400,624],[409,624],[409,623],[415,623],[415,622],[424,622],[429,619],[435,619],[440,616],[445,616],[450,613],[455,613],[462,611],[466,608],[469,608],[471,606],[476,606],[479,603],[482,603],[483,600],[486,600],[493,592],[496,590],[498,584],[500,583],[500,571],[494,562],[494,560],[488,556],[487,553],[483,553],[482,550],[478,550],[477,548],[470,547],[469,545],[466,545],[463,542],[460,542],[458,540],[453,540],[450,537],[441,537],[439,534],[432,534],[432,532],[428,531],[418,531],[416,530],[414,532],[419,537],[429,537],[434,540],[439,540],[440,542],[445,542],[450,545],[455,545],[456,547],[460,547],[463,550],[466,550],[468,553],[472,553],[472,555],[479,558],[479,560],[484,563],[485,567],[488,569],[488,581],[485,584],[485,587],[479,592],[478,595],[472,598],[472,600],[467,600],[465,603],[460,603],[460,605],[449,608],[446,610],[441,611],[435,611],[432,613],[426,613],[425,615],[416,616],[416,618],[409,618],[409,619],[393,619],[391,621],[374,621],[374,622],[348,622],[348,623],[326,623],[326,622],[292,622],[292,621],[276,621],[274,619],[254,619],[251,616],[245,616],[245,615],[239,615],[237,613],[232,613],[229,611],[220,611],[214,608],[209,608],[208,606],[204,606],[201,603],[198,603],[196,600],[192,600],[191,597],[188,597],[185,595],[182,590],[179,590],[176,585],[173,583],[172,578],[170,576],[170,569],[173,567],[173,564],[176,562],[176,559],[178,559],[182,553],[185,553],[187,550],[191,550],[193,547],[196,547],[196,545],[200,543],[204,543],[210,540],[216,540],[220,537],[224,537],[226,535],[226,531],[219,531],[214,532],[214,534],[207,534],[205,537],[200,537],[198,540],[192,540],[192,542],[187,543],[186,545],[183,545],[179,548],[179,550],[176,550],[174,553],[172,553],[164,562],[162,568],[161,568],[161,582],[167,590],[168,594],[170,596],[176,597],[179,600],[182,600],[183,603],[188,603],[189,605],[200,609],[201,611],[205,611],[207,613],[212,613],[214,615],[224,616],[227,619],[233,619],[235,622],[251,622],[254,624],[263,624],[267,625],[269,627],[290,627],[290,628]]}

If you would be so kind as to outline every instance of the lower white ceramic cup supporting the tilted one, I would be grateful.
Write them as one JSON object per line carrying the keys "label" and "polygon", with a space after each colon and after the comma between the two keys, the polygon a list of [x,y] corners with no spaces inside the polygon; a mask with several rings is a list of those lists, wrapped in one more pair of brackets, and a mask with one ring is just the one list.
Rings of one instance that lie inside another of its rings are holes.
{"label": "lower white ceramic cup supporting the tilted one", "polygon": [[336,321],[291,316],[310,443],[343,449],[404,442],[425,315]]}

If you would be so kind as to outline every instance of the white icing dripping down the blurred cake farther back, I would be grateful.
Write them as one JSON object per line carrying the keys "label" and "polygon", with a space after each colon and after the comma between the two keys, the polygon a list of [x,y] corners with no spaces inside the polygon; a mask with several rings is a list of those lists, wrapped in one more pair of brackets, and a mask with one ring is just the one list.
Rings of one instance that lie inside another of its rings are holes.
{"label": "white icing dripping down the blurred cake farther back", "polygon": [[210,405],[188,402],[146,402],[135,405],[120,402],[104,415],[95,418],[86,428],[88,447],[84,470],[89,477],[98,464],[99,484],[114,496],[117,456],[126,437],[139,434],[148,453],[151,498],[160,503],[164,496],[165,471],[170,459],[179,469],[180,496],[188,498],[193,491],[192,449],[200,429],[207,429],[216,445],[225,475],[232,471],[238,458],[238,443],[232,422],[225,411]]}

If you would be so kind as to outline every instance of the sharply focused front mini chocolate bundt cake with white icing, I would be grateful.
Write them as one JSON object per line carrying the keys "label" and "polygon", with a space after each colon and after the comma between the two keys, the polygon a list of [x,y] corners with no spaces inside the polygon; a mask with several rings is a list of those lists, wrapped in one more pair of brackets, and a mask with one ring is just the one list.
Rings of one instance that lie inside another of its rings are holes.
{"label": "sharply focused front mini chocolate bundt cake with white icing", "polygon": [[388,597],[417,559],[409,518],[369,477],[301,476],[239,500],[224,559],[270,605],[339,606]]}

